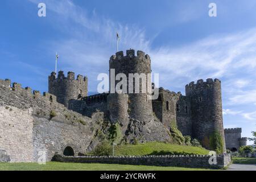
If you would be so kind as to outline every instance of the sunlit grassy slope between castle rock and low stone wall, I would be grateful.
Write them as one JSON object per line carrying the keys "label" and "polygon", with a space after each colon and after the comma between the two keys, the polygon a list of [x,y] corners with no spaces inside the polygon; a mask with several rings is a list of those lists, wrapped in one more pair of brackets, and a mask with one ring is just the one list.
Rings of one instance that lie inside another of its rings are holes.
{"label": "sunlit grassy slope between castle rock and low stone wall", "polygon": [[148,142],[137,145],[123,145],[115,148],[115,155],[149,155],[154,151],[187,152],[191,154],[208,155],[209,151],[201,147],[180,146],[170,143]]}

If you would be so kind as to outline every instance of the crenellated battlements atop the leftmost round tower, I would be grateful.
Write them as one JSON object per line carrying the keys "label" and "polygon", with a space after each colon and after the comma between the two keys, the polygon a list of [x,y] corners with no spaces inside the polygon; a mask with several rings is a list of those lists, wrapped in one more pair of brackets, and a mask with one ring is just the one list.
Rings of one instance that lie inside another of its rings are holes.
{"label": "crenellated battlements atop the leftmost round tower", "polygon": [[56,78],[56,73],[52,72],[51,75],[49,76],[49,80],[54,81],[54,80],[77,80],[77,81],[87,81],[88,78],[82,75],[77,75],[75,79],[75,73],[74,72],[68,72],[68,76],[65,77],[63,71],[59,71],[58,76]]}

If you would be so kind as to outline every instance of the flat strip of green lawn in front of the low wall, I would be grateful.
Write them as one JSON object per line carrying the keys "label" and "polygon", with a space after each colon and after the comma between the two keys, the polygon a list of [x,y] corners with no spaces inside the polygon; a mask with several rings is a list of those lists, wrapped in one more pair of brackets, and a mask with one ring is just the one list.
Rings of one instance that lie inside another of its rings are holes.
{"label": "flat strip of green lawn in front of the low wall", "polygon": [[132,166],[119,164],[82,164],[48,162],[38,163],[0,163],[0,171],[209,171],[210,169]]}

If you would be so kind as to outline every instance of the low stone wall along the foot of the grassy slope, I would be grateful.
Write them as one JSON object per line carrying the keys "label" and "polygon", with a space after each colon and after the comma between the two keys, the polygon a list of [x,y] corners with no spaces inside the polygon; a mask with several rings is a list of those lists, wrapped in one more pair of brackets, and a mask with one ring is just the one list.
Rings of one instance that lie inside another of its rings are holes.
{"label": "low stone wall along the foot of the grassy slope", "polygon": [[55,155],[54,161],[65,163],[105,163],[146,166],[176,166],[191,168],[224,168],[231,162],[230,154],[217,155],[217,164],[209,164],[208,155],[164,155],[164,156],[63,156]]}

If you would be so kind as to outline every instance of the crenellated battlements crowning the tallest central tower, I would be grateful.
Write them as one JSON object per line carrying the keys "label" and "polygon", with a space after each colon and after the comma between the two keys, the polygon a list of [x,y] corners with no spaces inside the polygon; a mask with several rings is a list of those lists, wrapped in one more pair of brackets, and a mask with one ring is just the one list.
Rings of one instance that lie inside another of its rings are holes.
{"label": "crenellated battlements crowning the tallest central tower", "polygon": [[123,55],[123,51],[119,51],[110,57],[110,60],[121,60],[123,58],[133,58],[133,57],[141,57],[142,59],[150,60],[150,56],[146,55],[143,51],[137,51],[137,56],[135,55],[134,49],[129,49],[126,51],[126,56]]}

